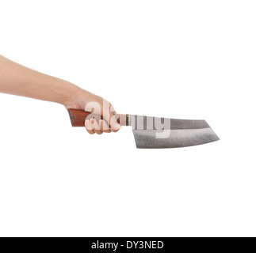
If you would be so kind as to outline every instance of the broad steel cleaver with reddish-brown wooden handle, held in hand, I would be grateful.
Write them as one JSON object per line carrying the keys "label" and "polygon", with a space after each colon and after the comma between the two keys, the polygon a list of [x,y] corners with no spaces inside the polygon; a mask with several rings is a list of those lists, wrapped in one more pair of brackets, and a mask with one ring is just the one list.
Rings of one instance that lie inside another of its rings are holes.
{"label": "broad steel cleaver with reddish-brown wooden handle, held in hand", "polygon": [[[69,109],[72,126],[85,126],[90,112]],[[219,141],[205,120],[166,119],[139,115],[116,114],[121,126],[132,126],[138,149],[182,148]],[[98,115],[97,115],[98,117]]]}

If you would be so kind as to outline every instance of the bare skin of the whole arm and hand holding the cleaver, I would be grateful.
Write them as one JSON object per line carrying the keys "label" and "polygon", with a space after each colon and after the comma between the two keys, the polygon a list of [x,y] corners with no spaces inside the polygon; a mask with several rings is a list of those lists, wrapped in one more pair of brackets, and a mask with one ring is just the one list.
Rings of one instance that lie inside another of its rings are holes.
{"label": "bare skin of the whole arm and hand holding the cleaver", "polygon": [[[69,81],[21,66],[2,55],[0,55],[0,93],[51,101],[63,104],[67,109],[85,110],[86,105],[93,103],[97,105],[94,114],[101,115],[103,120],[86,119],[85,126],[89,134],[117,132],[120,129],[117,120],[113,120],[116,112],[112,104],[105,105],[101,96],[89,93]],[[109,118],[105,115],[109,115]]]}

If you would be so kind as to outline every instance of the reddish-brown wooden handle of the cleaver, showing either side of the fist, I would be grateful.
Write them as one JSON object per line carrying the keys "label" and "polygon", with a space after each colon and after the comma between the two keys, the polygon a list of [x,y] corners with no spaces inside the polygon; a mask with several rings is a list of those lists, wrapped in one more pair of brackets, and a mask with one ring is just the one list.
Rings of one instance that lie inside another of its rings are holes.
{"label": "reddish-brown wooden handle of the cleaver, showing either side of the fist", "polygon": [[[72,126],[85,126],[85,121],[87,117],[89,119],[98,117],[98,115],[94,115],[90,112],[82,110],[68,109],[67,111],[71,117]],[[117,118],[117,122],[120,123],[121,126],[128,126],[128,115],[116,114],[115,116]]]}

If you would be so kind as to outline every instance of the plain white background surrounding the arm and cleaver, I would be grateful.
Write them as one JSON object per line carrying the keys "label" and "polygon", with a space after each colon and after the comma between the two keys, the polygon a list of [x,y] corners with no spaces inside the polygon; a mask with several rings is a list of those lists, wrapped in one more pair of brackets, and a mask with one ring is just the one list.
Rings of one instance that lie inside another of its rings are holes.
{"label": "plain white background surrounding the arm and cleaver", "polygon": [[220,142],[136,149],[0,94],[0,236],[256,236],[255,1],[1,1],[0,54]]}

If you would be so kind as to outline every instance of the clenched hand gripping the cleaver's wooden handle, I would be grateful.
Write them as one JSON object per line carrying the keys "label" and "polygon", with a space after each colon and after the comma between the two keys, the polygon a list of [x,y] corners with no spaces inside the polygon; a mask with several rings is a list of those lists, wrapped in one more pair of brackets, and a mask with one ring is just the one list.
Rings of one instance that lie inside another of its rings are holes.
{"label": "clenched hand gripping the cleaver's wooden handle", "polygon": [[67,109],[85,110],[96,115],[94,118],[88,117],[89,119],[85,121],[86,130],[89,134],[103,134],[120,130],[113,105],[101,96],[82,90],[65,106]]}

